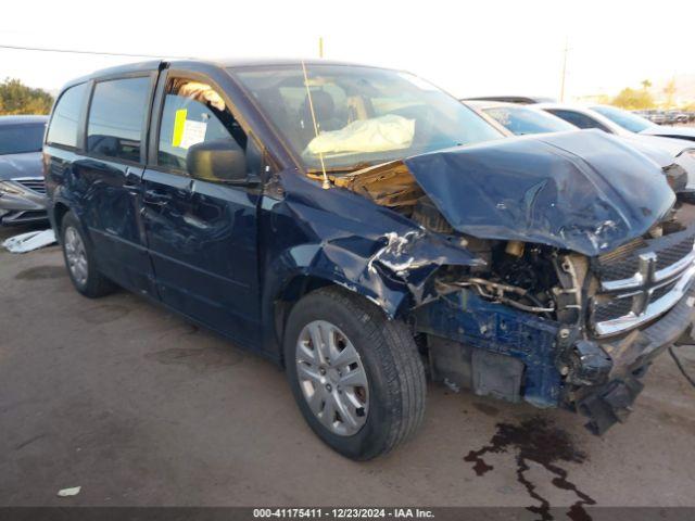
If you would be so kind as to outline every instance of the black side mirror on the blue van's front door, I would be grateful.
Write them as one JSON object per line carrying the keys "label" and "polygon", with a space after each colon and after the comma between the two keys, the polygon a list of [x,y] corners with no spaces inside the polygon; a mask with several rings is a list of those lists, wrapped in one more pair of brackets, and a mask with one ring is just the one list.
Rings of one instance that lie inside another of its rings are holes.
{"label": "black side mirror on the blue van's front door", "polygon": [[193,144],[186,155],[188,173],[195,179],[213,182],[240,182],[247,179],[247,154],[233,139],[217,139]]}

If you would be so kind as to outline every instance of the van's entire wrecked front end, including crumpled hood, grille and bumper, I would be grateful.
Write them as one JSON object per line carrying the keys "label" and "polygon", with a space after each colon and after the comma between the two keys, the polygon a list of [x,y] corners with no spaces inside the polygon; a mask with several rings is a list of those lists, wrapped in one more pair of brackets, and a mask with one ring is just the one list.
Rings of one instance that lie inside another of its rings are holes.
{"label": "van's entire wrecked front end, including crumpled hood, grille and bumper", "polygon": [[[690,334],[695,225],[656,165],[599,132],[451,149],[332,181],[420,226],[387,234],[369,269],[408,284],[404,315],[435,380],[567,407],[601,434],[628,416],[654,357]],[[426,255],[431,236],[477,262]]]}

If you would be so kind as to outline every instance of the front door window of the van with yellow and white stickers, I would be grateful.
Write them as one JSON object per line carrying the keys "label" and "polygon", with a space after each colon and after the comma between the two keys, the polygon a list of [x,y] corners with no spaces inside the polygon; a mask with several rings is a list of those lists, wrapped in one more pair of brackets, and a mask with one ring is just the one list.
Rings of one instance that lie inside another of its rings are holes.
{"label": "front door window of the van with yellow and white stickers", "polygon": [[157,163],[186,171],[186,154],[197,143],[233,139],[247,150],[247,135],[210,85],[169,79],[162,111]]}

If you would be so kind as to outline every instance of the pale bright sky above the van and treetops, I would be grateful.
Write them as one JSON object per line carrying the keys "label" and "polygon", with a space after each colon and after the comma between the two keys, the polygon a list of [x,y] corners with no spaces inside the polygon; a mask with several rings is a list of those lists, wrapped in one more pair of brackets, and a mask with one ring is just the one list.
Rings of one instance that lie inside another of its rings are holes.
{"label": "pale bright sky above the van and treetops", "polygon": [[[615,94],[695,73],[695,1],[9,1],[0,46],[191,58],[317,58],[410,71],[457,97]],[[146,60],[0,48],[0,79],[51,91]]]}

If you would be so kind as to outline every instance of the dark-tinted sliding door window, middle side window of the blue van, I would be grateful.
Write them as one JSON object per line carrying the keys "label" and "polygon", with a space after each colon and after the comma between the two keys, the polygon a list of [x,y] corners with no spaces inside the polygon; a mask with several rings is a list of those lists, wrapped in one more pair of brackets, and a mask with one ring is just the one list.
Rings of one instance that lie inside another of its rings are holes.
{"label": "dark-tinted sliding door window, middle side window of the blue van", "polygon": [[149,97],[149,77],[98,82],[89,107],[87,151],[139,162]]}

